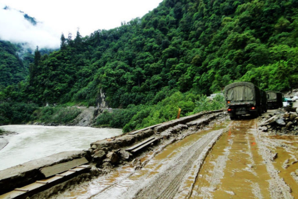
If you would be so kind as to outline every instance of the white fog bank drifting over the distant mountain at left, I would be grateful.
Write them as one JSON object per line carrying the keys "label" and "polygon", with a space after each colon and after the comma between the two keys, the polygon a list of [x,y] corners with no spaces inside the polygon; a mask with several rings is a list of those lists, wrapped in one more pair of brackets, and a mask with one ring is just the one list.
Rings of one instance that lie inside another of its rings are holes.
{"label": "white fog bank drifting over the distant mountain at left", "polygon": [[[0,40],[22,43],[26,47],[59,48],[60,36],[49,25],[36,21],[32,23],[25,13],[0,4]],[[31,17],[32,18],[32,17]]]}

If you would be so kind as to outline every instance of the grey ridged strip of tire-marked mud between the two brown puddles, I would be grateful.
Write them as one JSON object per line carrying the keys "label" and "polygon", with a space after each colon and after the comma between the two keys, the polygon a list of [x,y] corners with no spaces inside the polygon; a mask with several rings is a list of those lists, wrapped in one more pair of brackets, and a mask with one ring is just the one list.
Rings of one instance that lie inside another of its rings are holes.
{"label": "grey ridged strip of tire-marked mud between the two brown puddles", "polygon": [[[203,163],[208,152],[223,134],[224,129],[212,131],[188,147],[181,156],[173,160],[174,166],[169,167],[159,173],[150,185],[140,190],[135,199],[170,199],[179,194],[180,185],[188,176],[199,157],[203,157],[199,162]],[[203,154],[203,155],[202,155]],[[196,165],[197,167],[200,167]]]}

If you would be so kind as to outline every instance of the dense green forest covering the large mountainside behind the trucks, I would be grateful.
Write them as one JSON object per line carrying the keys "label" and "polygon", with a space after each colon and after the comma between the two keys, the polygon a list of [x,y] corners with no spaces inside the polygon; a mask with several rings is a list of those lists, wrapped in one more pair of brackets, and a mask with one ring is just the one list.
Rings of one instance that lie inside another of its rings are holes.
{"label": "dense green forest covering the large mountainside behind the trucks", "polygon": [[[61,49],[49,55],[36,49],[28,80],[2,89],[0,100],[94,106],[102,92],[130,119],[150,107],[160,122],[174,117],[159,110],[169,99],[188,101],[187,115],[234,81],[290,90],[298,83],[297,44],[298,0],[164,0],[118,28],[62,34]],[[104,123],[111,120],[98,119]]]}

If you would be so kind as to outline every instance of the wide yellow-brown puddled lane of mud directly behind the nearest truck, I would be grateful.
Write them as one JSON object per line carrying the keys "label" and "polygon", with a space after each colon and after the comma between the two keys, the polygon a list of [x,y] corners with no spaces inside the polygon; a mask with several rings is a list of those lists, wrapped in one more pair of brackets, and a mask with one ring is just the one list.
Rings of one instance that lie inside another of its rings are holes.
{"label": "wide yellow-brown puddled lane of mud directly behind the nearest truck", "polygon": [[256,120],[233,121],[200,170],[190,199],[271,199]]}

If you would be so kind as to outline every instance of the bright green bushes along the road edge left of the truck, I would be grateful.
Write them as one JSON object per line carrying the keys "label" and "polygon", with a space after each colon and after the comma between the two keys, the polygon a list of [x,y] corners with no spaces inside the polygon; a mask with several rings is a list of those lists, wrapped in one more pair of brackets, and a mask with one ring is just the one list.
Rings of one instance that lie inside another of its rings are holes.
{"label": "bright green bushes along the road edge left of the truck", "polygon": [[179,108],[180,117],[183,117],[205,110],[221,109],[224,106],[224,97],[221,95],[209,100],[204,95],[176,92],[155,105],[130,105],[126,109],[104,112],[97,118],[96,124],[123,128],[123,132],[130,132],[175,119]]}

